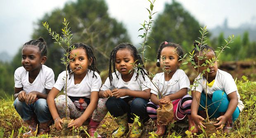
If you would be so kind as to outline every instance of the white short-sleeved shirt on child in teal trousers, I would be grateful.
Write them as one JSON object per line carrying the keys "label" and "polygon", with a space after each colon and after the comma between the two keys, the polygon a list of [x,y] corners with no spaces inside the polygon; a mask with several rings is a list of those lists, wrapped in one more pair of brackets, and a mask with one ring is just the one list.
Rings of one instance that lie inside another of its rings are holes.
{"label": "white short-sleeved shirt on child in teal trousers", "polygon": [[[197,87],[193,86],[191,88],[191,90],[192,91],[199,91],[201,93],[202,91],[205,90],[207,81],[206,81],[205,77],[200,77],[200,76],[201,76],[201,74],[199,74],[197,76],[197,80],[198,80],[198,83],[199,83],[198,86]],[[235,81],[234,81],[233,77],[229,73],[227,73],[223,70],[220,70],[220,69],[218,69],[218,71],[217,71],[213,86],[211,88],[208,87],[208,86],[206,87],[207,94],[209,94],[209,95],[213,95],[213,92],[217,91],[217,90],[225,91],[225,93],[227,95],[236,91],[237,92],[237,97],[238,97],[237,107],[239,108],[240,112],[242,112],[242,110],[244,109],[244,104],[240,100],[240,95],[237,91],[237,85],[235,84]],[[204,91],[204,93],[206,94],[205,91]]]}

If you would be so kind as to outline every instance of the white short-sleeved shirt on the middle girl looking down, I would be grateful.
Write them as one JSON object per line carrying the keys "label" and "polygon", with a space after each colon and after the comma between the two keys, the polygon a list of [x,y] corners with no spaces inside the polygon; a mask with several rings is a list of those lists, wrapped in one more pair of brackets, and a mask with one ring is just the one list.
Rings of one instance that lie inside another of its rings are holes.
{"label": "white short-sleeved shirt on the middle girl looking down", "polygon": [[[118,76],[118,78],[116,77],[116,74]],[[112,73],[113,76],[113,80],[111,82],[111,86],[110,86],[110,80],[109,77],[107,77],[107,80],[105,81],[105,83],[102,85],[102,87],[100,88],[100,90],[102,91],[106,91],[107,89],[109,89],[110,91],[112,91],[113,89],[130,89],[132,91],[144,91],[146,89],[150,89],[150,80],[147,77],[147,75],[144,75],[145,77],[145,81],[142,77],[141,74],[139,74],[137,80],[136,80],[136,73],[133,73],[133,77],[130,79],[129,82],[124,82],[122,79],[122,75],[121,73],[119,73],[118,71],[115,73]],[[128,96],[123,96],[120,98],[126,98]]]}

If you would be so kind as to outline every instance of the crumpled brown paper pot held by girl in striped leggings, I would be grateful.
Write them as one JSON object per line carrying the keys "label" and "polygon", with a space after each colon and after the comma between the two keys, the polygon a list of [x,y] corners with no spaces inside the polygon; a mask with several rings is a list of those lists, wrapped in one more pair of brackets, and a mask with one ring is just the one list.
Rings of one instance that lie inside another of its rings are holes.
{"label": "crumpled brown paper pot held by girl in striped leggings", "polygon": [[167,125],[169,122],[173,121],[173,104],[162,105],[162,108],[156,109],[157,114],[157,124]]}

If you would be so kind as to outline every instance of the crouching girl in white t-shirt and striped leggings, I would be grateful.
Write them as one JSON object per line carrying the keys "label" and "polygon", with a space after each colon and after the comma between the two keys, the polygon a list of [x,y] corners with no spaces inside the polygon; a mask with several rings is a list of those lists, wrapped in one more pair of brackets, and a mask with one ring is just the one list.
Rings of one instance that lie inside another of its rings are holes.
{"label": "crouching girl in white t-shirt and striped leggings", "polygon": [[192,133],[197,131],[196,128],[191,130],[195,124],[190,114],[192,97],[187,94],[190,91],[190,81],[185,72],[178,69],[181,63],[179,59],[182,56],[181,46],[171,42],[162,42],[157,52],[156,66],[161,66],[164,72],[156,74],[152,80],[151,101],[147,103],[147,113],[157,126],[156,134],[158,136],[163,136],[166,133],[166,126],[157,124],[156,109],[159,108],[159,105],[171,102],[173,103],[174,119],[182,120],[187,115],[189,131]]}

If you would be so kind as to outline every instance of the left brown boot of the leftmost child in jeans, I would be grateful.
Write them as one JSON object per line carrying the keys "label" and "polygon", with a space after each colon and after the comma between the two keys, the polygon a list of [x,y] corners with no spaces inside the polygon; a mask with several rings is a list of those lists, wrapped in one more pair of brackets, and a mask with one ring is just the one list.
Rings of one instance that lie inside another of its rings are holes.
{"label": "left brown boot of the leftmost child in jeans", "polygon": [[31,117],[31,119],[24,121],[26,124],[28,124],[28,129],[30,131],[23,134],[23,138],[29,138],[32,136],[36,136],[37,134],[37,124],[38,121],[36,119],[36,116]]}

